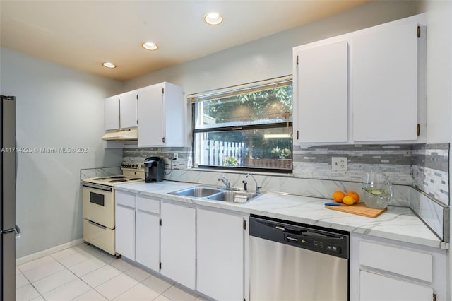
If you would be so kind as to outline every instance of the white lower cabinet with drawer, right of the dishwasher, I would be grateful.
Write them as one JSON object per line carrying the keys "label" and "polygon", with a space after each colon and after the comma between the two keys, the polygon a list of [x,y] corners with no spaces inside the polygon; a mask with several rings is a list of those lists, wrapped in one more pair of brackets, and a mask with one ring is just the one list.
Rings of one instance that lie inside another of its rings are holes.
{"label": "white lower cabinet with drawer, right of the dishwasher", "polygon": [[444,275],[444,249],[350,235],[350,301],[446,301]]}

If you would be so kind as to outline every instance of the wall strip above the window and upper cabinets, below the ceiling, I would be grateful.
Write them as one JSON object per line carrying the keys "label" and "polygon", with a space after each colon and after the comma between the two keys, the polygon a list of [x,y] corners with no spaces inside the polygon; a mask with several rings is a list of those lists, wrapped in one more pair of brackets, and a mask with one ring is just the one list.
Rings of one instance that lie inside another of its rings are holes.
{"label": "wall strip above the window and upper cabinets, below the ceiling", "polygon": [[292,74],[292,47],[413,14],[411,1],[372,2],[299,28],[126,81],[124,92],[169,81],[181,85],[186,94],[191,94],[285,76]]}

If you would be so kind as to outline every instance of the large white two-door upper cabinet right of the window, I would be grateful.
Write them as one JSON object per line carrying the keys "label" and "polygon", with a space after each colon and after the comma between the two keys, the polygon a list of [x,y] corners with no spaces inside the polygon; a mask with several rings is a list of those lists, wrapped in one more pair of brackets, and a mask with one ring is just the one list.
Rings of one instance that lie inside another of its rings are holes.
{"label": "large white two-door upper cabinet right of the window", "polygon": [[294,143],[424,142],[425,15],[293,49]]}

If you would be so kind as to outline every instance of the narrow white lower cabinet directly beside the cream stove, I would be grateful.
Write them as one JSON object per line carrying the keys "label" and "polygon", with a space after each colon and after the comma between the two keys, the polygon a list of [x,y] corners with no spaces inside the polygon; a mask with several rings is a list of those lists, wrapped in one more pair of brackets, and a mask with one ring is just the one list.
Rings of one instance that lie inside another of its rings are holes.
{"label": "narrow white lower cabinet directly beside the cream stove", "polygon": [[115,193],[116,252],[135,260],[135,195]]}

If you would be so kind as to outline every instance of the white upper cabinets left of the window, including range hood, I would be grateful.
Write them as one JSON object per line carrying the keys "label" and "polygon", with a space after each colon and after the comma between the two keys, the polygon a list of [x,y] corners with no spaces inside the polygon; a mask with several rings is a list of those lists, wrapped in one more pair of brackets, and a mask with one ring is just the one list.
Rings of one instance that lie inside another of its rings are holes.
{"label": "white upper cabinets left of the window, including range hood", "polygon": [[185,115],[184,91],[172,83],[115,95],[105,99],[102,139],[107,147],[185,146]]}

